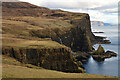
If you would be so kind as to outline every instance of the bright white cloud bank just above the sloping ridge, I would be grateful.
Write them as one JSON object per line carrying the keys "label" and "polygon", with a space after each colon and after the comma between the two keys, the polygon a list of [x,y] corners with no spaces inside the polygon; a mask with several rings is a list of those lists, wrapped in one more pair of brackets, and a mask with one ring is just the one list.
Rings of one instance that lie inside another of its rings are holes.
{"label": "bright white cloud bank just above the sloping ridge", "polygon": [[86,9],[91,5],[86,2],[43,2],[40,6],[45,6],[49,8],[64,8],[64,9]]}

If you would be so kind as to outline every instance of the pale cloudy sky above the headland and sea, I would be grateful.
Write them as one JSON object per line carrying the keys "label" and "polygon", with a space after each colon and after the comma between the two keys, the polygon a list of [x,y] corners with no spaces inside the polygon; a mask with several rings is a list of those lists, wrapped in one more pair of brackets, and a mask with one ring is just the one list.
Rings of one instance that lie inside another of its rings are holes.
{"label": "pale cloudy sky above the headland and sea", "polygon": [[118,23],[119,0],[20,0],[32,4],[62,9],[70,12],[88,13],[91,21]]}

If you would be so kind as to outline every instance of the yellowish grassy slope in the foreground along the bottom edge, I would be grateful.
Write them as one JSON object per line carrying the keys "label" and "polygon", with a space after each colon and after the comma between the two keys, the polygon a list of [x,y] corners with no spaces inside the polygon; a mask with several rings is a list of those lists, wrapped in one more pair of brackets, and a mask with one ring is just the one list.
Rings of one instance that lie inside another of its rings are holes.
{"label": "yellowish grassy slope in the foreground along the bottom edge", "polygon": [[4,78],[11,78],[11,80],[12,78],[68,78],[68,80],[70,78],[108,78],[108,79],[111,78],[112,80],[117,80],[117,78],[111,76],[102,76],[86,73],[63,73],[59,71],[47,70],[29,64],[21,64],[15,59],[7,56],[3,56],[2,60],[3,60],[2,80],[4,80]]}

